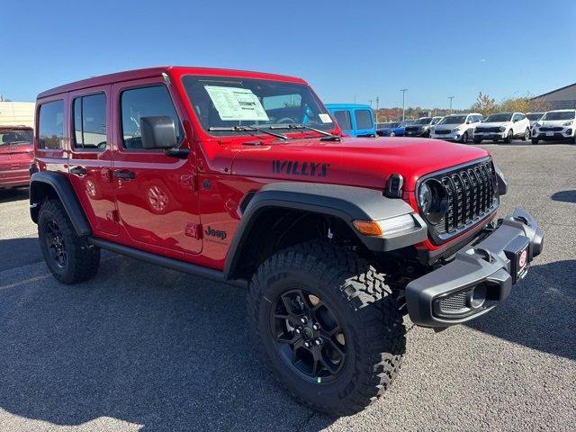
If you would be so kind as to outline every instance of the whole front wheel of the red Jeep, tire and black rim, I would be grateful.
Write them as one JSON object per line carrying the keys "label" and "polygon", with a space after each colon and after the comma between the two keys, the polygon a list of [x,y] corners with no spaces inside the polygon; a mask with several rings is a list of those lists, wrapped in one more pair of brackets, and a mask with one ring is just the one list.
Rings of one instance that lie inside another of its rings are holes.
{"label": "whole front wheel of the red Jeep, tire and black rim", "polygon": [[364,410],[398,374],[398,303],[353,251],[311,242],[278,252],[253,276],[247,308],[263,364],[314,410]]}

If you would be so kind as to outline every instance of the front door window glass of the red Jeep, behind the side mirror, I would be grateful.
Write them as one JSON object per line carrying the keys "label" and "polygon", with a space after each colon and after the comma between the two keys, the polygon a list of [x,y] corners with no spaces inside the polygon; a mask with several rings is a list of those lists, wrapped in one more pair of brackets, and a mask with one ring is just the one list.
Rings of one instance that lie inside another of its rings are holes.
{"label": "front door window glass of the red Jeep, behind the side mirror", "polygon": [[142,133],[140,130],[140,119],[142,117],[172,117],[176,127],[176,139],[180,142],[184,138],[182,125],[165,85],[152,85],[124,90],[120,99],[122,145],[124,148],[142,148]]}

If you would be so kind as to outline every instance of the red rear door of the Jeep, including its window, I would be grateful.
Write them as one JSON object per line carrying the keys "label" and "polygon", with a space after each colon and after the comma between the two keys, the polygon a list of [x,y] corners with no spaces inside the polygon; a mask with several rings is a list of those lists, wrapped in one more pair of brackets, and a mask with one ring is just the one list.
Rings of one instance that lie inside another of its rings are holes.
{"label": "red rear door of the Jeep, including its window", "polygon": [[69,94],[70,157],[68,172],[94,234],[117,234],[112,184],[112,86]]}

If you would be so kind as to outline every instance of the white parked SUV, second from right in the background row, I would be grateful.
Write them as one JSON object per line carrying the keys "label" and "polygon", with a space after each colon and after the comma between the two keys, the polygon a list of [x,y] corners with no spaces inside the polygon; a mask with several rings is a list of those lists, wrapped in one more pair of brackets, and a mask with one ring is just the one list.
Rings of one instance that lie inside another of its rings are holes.
{"label": "white parked SUV, second from right in the background row", "polygon": [[510,142],[514,138],[530,139],[530,121],[522,112],[491,114],[474,130],[474,144],[480,144],[482,139]]}

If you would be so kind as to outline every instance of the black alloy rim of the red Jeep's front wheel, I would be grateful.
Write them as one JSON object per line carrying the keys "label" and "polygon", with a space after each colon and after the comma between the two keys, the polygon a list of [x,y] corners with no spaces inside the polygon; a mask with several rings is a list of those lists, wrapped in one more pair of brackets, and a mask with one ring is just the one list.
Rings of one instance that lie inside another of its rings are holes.
{"label": "black alloy rim of the red Jeep's front wheel", "polygon": [[347,340],[328,304],[315,293],[294,289],[280,294],[270,311],[275,347],[294,372],[314,383],[338,377]]}

